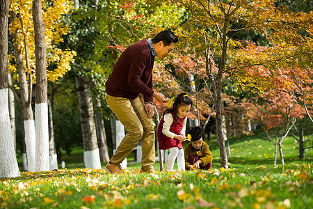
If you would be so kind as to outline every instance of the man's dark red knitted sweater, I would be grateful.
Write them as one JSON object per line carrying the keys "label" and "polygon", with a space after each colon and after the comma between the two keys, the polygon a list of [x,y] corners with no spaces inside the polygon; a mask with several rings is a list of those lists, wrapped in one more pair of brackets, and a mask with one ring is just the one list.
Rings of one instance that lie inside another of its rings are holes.
{"label": "man's dark red knitted sweater", "polygon": [[106,93],[134,100],[139,93],[145,102],[153,102],[152,69],[154,56],[146,39],[125,49],[106,81]]}

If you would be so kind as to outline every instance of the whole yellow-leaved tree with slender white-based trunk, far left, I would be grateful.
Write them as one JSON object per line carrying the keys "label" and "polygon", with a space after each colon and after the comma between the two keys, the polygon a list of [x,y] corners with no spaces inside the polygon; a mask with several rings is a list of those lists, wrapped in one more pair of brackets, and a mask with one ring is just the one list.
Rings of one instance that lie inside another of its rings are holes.
{"label": "whole yellow-leaved tree with slender white-based trunk, far left", "polygon": [[[29,0],[10,1],[9,32],[12,37],[14,54],[10,54],[8,68],[13,78],[19,82],[15,88],[17,101],[22,106],[26,153],[29,171],[35,171],[35,122],[31,109],[31,93],[35,79],[35,38],[33,28],[32,3]],[[70,70],[75,52],[62,50],[58,45],[70,26],[61,22],[62,15],[68,13],[72,4],[67,0],[43,1],[42,19],[45,24],[45,47],[47,48],[47,79],[55,82]],[[19,91],[19,95],[17,93]]]}

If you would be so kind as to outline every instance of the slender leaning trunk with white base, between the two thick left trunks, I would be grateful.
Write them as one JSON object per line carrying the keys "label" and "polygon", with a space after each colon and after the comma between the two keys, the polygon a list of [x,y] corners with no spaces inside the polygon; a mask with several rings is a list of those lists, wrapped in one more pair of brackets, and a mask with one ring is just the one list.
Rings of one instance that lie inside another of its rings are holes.
{"label": "slender leaning trunk with white base, between the two thick left trunks", "polygon": [[[10,12],[10,18],[15,19],[16,14]],[[11,20],[11,22],[13,21]],[[22,106],[22,112],[24,116],[24,134],[26,144],[26,156],[28,163],[28,171],[35,171],[35,121],[33,120],[33,109],[31,108],[31,83],[27,83],[26,72],[24,68],[23,55],[20,51],[22,47],[16,42],[17,31],[13,33],[13,51],[16,61],[17,74],[19,75],[19,94]],[[27,47],[25,47],[26,49]],[[27,54],[27,53],[25,53]],[[28,59],[27,57],[25,58]],[[26,62],[27,63],[27,62]],[[31,81],[31,79],[30,79]]]}

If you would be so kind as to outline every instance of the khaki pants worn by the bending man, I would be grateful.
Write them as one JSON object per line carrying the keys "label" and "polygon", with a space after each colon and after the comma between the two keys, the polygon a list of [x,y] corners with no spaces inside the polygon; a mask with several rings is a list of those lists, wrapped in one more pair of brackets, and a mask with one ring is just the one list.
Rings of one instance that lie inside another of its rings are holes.
{"label": "khaki pants worn by the bending man", "polygon": [[141,139],[141,167],[143,170],[153,169],[152,165],[155,162],[154,124],[152,119],[148,118],[141,99],[137,97],[129,100],[106,94],[106,102],[127,130],[127,134],[111,157],[111,163],[122,162]]}

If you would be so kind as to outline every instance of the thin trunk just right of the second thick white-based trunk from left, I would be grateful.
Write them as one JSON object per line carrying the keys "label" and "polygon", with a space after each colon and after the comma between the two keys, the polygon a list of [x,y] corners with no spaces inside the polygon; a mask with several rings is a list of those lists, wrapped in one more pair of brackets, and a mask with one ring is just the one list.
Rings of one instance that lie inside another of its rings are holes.
{"label": "thin trunk just right of the second thick white-based trunk from left", "polygon": [[54,123],[52,120],[51,103],[48,100],[48,120],[49,120],[49,164],[50,170],[58,169],[58,155],[56,154],[56,143],[54,141]]}

